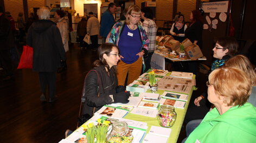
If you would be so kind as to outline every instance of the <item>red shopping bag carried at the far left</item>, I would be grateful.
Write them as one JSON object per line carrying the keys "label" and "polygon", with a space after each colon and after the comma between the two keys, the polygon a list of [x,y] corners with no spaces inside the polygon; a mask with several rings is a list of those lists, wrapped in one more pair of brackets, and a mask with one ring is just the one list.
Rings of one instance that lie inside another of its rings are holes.
{"label": "red shopping bag carried at the far left", "polygon": [[20,63],[18,63],[18,69],[32,68],[33,66],[33,48],[23,46]]}

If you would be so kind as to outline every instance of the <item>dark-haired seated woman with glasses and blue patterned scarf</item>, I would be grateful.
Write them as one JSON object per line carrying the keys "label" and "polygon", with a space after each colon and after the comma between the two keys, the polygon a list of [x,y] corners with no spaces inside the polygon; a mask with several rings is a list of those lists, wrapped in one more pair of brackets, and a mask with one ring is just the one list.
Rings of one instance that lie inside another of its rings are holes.
{"label": "dark-haired seated woman with glasses and blue patterned scarf", "polygon": [[[238,42],[233,37],[219,37],[215,39],[215,46],[213,48],[213,57],[216,59],[212,63],[212,67],[209,72],[214,69],[220,68],[225,64],[230,57],[233,57],[238,51]],[[203,119],[212,105],[207,99],[207,92],[198,96],[194,105],[191,104],[188,108],[188,112],[184,121],[189,122],[191,120]]]}

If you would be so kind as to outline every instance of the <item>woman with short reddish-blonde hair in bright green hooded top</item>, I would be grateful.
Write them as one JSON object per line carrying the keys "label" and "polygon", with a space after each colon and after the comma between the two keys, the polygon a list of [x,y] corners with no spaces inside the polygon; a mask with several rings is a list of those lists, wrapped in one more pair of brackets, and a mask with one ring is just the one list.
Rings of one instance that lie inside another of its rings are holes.
{"label": "woman with short reddish-blonde hair in bright green hooded top", "polygon": [[185,142],[255,142],[256,107],[247,100],[252,81],[232,67],[209,75],[208,100],[215,105]]}

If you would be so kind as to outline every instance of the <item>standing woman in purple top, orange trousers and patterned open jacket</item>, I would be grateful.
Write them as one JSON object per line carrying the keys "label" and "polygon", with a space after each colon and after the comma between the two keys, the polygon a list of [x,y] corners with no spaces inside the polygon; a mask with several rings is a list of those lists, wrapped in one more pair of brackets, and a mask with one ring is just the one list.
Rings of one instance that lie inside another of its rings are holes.
{"label": "standing woman in purple top, orange trousers and patterned open jacket", "polygon": [[148,55],[149,40],[140,22],[141,11],[137,5],[127,10],[126,20],[113,25],[106,38],[106,43],[116,44],[120,51],[120,62],[117,65],[118,85],[124,86],[138,79],[142,71],[142,58]]}

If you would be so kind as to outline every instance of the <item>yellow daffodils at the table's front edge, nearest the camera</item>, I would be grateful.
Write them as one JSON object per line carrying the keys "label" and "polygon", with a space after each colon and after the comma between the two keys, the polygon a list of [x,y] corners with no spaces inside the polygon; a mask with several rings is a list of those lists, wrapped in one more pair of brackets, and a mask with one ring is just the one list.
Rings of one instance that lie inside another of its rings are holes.
{"label": "yellow daffodils at the table's front edge, nearest the camera", "polygon": [[94,137],[96,142],[103,143],[106,141],[107,128],[110,125],[110,121],[102,121],[98,119],[98,125],[94,126],[91,122],[88,125],[82,125],[86,129],[85,135],[88,143],[94,143]]}

